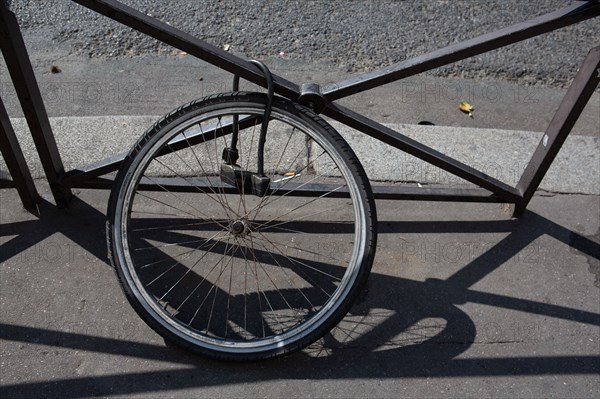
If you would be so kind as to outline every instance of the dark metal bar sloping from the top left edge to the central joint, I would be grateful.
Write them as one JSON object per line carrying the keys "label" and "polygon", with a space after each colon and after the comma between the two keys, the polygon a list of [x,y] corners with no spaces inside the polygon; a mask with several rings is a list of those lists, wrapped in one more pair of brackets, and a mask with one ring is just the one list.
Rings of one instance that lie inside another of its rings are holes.
{"label": "dark metal bar sloping from the top left edge to the central joint", "polygon": [[[162,21],[149,17],[115,0],[73,0],[97,13],[138,30],[170,46],[185,51],[221,69],[242,78],[267,87],[264,74],[252,63],[236,57],[216,46],[176,29]],[[292,100],[299,96],[298,85],[281,76],[273,75],[274,89],[277,94]]]}

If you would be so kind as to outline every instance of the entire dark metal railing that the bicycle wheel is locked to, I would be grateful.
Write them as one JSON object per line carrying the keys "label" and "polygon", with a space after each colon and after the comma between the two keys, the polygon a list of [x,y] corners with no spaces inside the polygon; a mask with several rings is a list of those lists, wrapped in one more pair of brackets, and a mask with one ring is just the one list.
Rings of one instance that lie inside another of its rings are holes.
{"label": "entire dark metal railing that the bicycle wheel is locked to", "polygon": [[[115,0],[73,0],[115,21],[145,33],[166,44],[209,62],[235,76],[267,87],[263,71],[250,61],[236,57],[175,27],[143,14]],[[109,189],[111,180],[103,175],[118,169],[124,155],[110,157],[93,165],[65,171],[50,128],[40,90],[14,14],[0,3],[0,45],[40,156],[44,172],[58,206],[67,206],[71,188]],[[300,102],[386,144],[461,177],[480,189],[374,187],[376,198],[464,202],[504,202],[515,204],[516,216],[527,207],[552,161],[600,82],[600,46],[593,48],[564,96],[542,140],[540,140],[516,187],[509,186],[473,167],[442,154],[416,140],[360,115],[335,101],[408,76],[438,68],[477,54],[532,38],[600,15],[598,1],[573,5],[493,33],[453,44],[337,83],[319,87],[297,85],[273,75],[274,92]],[[0,187],[18,190],[25,208],[35,210],[37,193],[27,163],[17,143],[10,120],[0,101],[0,150],[11,178],[0,176]],[[302,195],[320,195],[318,189]]]}

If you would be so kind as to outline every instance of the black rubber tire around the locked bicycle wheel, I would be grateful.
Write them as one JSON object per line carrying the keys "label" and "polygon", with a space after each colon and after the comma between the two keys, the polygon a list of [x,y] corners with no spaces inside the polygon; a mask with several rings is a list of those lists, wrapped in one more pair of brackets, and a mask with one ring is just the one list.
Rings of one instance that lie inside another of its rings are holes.
{"label": "black rubber tire around the locked bicycle wheel", "polygon": [[[180,125],[189,118],[201,114],[204,109],[209,107],[222,107],[226,109],[228,106],[240,106],[241,104],[260,104],[266,103],[266,96],[261,93],[247,93],[247,92],[234,92],[224,93],[205,97],[186,105],[183,105],[168,115],[161,118],[153,127],[151,127],[146,133],[138,140],[133,146],[130,153],[127,155],[121,168],[115,179],[114,187],[111,191],[108,212],[107,212],[107,245],[108,253],[113,264],[121,287],[137,314],[157,333],[163,336],[166,340],[183,347],[192,352],[205,355],[214,359],[228,360],[228,361],[256,361],[263,360],[272,357],[278,357],[291,352],[297,351],[313,343],[314,341],[321,338],[327,332],[329,332],[349,311],[354,300],[358,296],[359,292],[364,287],[368,275],[371,270],[371,266],[375,254],[376,246],[376,210],[373,195],[369,185],[367,176],[362,168],[358,158],[346,143],[346,141],[337,133],[326,121],[314,114],[311,110],[303,107],[299,104],[293,103],[289,100],[276,97],[273,103],[275,110],[293,115],[295,118],[299,118],[310,125],[317,134],[322,135],[324,140],[328,140],[332,146],[339,152],[340,156],[345,160],[346,166],[351,170],[352,177],[355,180],[355,184],[360,193],[361,208],[364,208],[362,212],[365,215],[365,228],[364,236],[366,243],[364,245],[365,253],[360,259],[358,272],[356,279],[354,280],[352,287],[349,289],[347,295],[339,301],[335,306],[335,311],[318,325],[314,330],[308,333],[302,339],[286,343],[281,347],[271,349],[268,351],[261,352],[248,352],[248,353],[230,353],[222,352],[214,349],[208,349],[206,347],[198,346],[187,339],[182,339],[180,336],[174,334],[169,329],[165,328],[163,324],[155,319],[144,304],[140,302],[138,296],[136,296],[135,287],[132,287],[127,282],[127,278],[124,275],[124,265],[119,260],[117,255],[118,251],[122,251],[122,248],[118,245],[118,227],[115,223],[117,209],[119,208],[119,201],[122,199],[122,192],[124,184],[129,182],[128,176],[130,177],[133,173],[132,168],[136,168],[136,159],[140,158],[140,154],[144,154],[144,151],[156,142],[163,131],[168,132],[173,126]],[[120,205],[119,209],[123,209],[123,204]]]}

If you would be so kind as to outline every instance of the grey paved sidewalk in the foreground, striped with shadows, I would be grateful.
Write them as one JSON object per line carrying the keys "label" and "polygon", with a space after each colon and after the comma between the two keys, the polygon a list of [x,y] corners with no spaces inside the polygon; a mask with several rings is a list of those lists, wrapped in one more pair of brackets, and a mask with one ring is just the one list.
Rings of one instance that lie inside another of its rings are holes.
{"label": "grey paved sidewalk in the foreground, striped with shadows", "polygon": [[0,395],[598,397],[600,197],[379,201],[368,290],[287,358],[228,364],[166,347],[107,264],[107,192],[41,217],[0,191]]}

